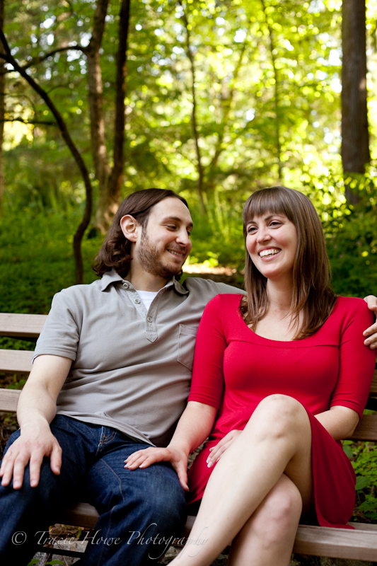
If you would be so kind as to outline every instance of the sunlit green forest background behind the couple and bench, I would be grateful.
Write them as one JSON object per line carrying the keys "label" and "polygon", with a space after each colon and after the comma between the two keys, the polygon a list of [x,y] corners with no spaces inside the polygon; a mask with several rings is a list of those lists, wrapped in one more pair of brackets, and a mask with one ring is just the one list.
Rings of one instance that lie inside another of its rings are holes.
{"label": "sunlit green forest background behind the couple and bench", "polygon": [[[189,202],[188,263],[238,284],[245,199],[302,190],[335,291],[377,295],[376,31],[377,0],[0,0],[0,311],[93,281],[147,187]],[[377,456],[352,450],[375,520]]]}

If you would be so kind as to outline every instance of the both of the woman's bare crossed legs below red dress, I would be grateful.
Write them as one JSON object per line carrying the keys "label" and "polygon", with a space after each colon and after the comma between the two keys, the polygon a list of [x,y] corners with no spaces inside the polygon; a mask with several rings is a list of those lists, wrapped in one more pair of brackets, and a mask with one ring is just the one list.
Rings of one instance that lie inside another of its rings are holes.
{"label": "both of the woman's bare crossed legs below red dress", "polygon": [[313,511],[311,424],[294,398],[269,395],[211,473],[175,560],[210,565],[233,540],[231,566],[288,565],[301,510]]}

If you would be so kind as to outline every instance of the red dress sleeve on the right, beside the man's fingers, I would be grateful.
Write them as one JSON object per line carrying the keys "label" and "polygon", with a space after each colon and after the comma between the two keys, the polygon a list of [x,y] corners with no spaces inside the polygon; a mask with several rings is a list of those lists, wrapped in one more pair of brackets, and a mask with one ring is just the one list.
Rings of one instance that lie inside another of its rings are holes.
{"label": "red dress sleeve on the right, beside the man's fingers", "polygon": [[364,346],[363,337],[363,331],[373,324],[373,314],[362,299],[350,300],[352,306],[346,306],[340,329],[339,376],[330,407],[348,407],[361,418],[376,364],[376,352]]}

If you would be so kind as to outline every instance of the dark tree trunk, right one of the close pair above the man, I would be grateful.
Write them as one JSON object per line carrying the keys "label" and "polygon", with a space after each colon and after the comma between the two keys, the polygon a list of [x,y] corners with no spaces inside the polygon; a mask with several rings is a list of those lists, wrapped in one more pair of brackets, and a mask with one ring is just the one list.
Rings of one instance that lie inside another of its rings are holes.
{"label": "dark tree trunk, right one of the close pair above the man", "polygon": [[120,202],[120,187],[122,186],[124,168],[124,125],[126,78],[127,78],[127,42],[129,30],[130,0],[122,0],[119,19],[119,45],[117,51],[117,83],[115,94],[115,124],[114,124],[114,165],[108,176],[106,186],[100,191],[98,208],[94,224],[101,232],[110,226]]}

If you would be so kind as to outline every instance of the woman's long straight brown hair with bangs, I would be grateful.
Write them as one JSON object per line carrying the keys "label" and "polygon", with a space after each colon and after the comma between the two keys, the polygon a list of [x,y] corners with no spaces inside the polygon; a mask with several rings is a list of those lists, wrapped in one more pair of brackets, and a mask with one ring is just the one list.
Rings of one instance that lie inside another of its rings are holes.
{"label": "woman's long straight brown hair with bangs", "polygon": [[[314,334],[330,316],[337,299],[330,285],[330,262],[327,257],[322,224],[311,201],[297,190],[270,187],[250,195],[243,207],[243,236],[246,240],[248,222],[270,212],[285,214],[296,226],[297,250],[294,258],[294,289],[289,314],[291,325],[297,328],[294,340]],[[246,252],[245,289],[248,295],[241,301],[240,311],[245,323],[255,330],[268,306],[267,278],[255,267]],[[303,312],[301,325],[298,316]]]}

